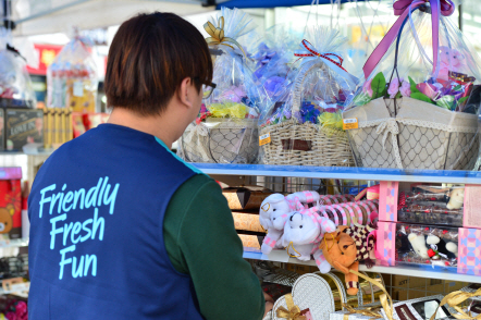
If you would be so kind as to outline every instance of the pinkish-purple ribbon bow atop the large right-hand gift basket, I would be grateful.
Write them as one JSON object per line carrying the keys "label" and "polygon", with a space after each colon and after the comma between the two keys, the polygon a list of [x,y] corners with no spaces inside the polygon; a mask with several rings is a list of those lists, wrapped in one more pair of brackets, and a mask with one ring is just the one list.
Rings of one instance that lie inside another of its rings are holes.
{"label": "pinkish-purple ribbon bow atop the large right-hand gift basket", "polygon": [[378,63],[387,52],[396,37],[399,36],[399,30],[404,24],[404,21],[406,20],[406,16],[415,11],[415,9],[423,5],[427,2],[431,3],[433,74],[435,73],[437,69],[437,53],[440,44],[440,13],[444,16],[452,15],[454,12],[453,2],[451,0],[398,0],[394,3],[393,8],[394,14],[399,15],[399,17],[366,61],[366,64],[362,67],[366,78],[369,77]]}

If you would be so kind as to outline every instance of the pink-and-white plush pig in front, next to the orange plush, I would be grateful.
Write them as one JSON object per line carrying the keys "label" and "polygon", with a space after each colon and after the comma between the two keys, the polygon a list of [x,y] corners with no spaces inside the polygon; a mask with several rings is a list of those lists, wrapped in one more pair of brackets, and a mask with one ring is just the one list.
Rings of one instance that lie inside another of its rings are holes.
{"label": "pink-and-white plush pig in front, next to the orange plush", "polygon": [[289,256],[301,261],[310,260],[312,255],[319,270],[322,273],[328,273],[331,270],[331,264],[324,259],[319,243],[325,233],[334,231],[334,222],[319,216],[319,209],[312,207],[289,216],[284,226],[282,244],[287,247]]}

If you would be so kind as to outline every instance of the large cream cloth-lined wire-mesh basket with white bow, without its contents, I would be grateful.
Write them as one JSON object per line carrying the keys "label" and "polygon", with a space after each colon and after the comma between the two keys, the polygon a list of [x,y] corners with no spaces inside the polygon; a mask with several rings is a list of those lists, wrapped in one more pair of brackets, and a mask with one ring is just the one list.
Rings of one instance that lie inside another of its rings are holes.
{"label": "large cream cloth-lined wire-mesh basket with white bow, without its contents", "polygon": [[344,112],[357,167],[471,170],[478,159],[474,114],[453,112],[411,98],[383,99]]}

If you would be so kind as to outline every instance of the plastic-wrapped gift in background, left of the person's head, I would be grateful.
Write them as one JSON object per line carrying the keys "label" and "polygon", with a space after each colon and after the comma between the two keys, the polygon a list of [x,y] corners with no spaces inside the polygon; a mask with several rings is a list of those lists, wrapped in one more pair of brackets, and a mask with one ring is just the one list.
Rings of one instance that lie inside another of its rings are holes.
{"label": "plastic-wrapped gift in background, left of the person's head", "polygon": [[97,65],[92,44],[85,37],[65,45],[47,70],[48,107],[96,112]]}

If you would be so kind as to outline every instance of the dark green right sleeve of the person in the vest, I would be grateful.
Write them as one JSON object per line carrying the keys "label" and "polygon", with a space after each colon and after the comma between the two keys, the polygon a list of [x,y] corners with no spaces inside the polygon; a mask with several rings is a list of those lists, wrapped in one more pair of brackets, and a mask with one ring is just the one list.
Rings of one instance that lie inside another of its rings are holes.
{"label": "dark green right sleeve of the person in the vest", "polygon": [[163,231],[172,264],[190,275],[206,319],[262,319],[259,280],[243,259],[227,200],[212,179],[198,174],[175,192]]}

